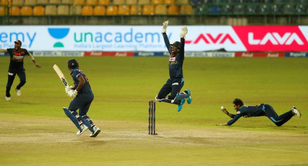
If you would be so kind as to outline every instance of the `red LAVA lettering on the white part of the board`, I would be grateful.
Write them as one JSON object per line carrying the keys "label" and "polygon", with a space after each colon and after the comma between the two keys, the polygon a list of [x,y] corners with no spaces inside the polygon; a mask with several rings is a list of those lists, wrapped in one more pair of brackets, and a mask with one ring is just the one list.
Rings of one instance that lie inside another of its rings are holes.
{"label": "red LAVA lettering on the white part of the board", "polygon": [[236,44],[230,34],[220,33],[215,38],[212,34],[200,34],[196,40],[185,40],[185,44],[198,44],[201,40],[203,40],[206,44],[224,44],[225,42],[230,42],[232,44]]}

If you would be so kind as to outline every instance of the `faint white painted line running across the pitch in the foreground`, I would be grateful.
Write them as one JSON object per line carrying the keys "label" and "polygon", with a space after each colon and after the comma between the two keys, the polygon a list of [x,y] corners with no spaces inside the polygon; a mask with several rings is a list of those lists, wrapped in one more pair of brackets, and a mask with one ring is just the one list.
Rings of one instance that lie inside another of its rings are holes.
{"label": "faint white painted line running across the pitch in the foreground", "polygon": [[[0,128],[3,128],[3,127],[0,127]],[[32,130],[32,129],[22,129],[22,128],[8,128],[8,129],[14,129],[14,130],[30,130],[30,131],[37,131],[37,132],[54,132],[54,131]],[[58,133],[69,133],[69,132],[58,132]],[[145,140],[145,139],[134,139],[134,140]],[[174,141],[160,141],[160,140],[145,140],[145,141],[158,141],[158,142],[166,142],[166,143],[173,143],[173,144],[191,144],[191,145],[218,146],[218,147],[225,147],[225,148],[242,148],[242,149],[268,150],[268,151],[278,151],[278,152],[308,153],[308,152],[287,151],[287,150],[260,149],[260,148],[245,148],[245,147],[235,147],[235,146],[210,145],[210,144],[195,144],[195,143],[174,142]]]}

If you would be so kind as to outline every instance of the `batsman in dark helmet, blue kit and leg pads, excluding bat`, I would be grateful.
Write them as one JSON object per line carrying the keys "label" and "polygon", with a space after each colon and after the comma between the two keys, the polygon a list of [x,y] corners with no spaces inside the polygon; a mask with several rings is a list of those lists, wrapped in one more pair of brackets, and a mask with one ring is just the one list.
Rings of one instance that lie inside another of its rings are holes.
{"label": "batsman in dark helmet, blue kit and leg pads, excluding bat", "polygon": [[[94,99],[89,80],[87,76],[84,75],[83,71],[79,70],[79,64],[76,59],[68,60],[67,67],[71,71],[74,87],[65,87],[65,91],[68,96],[74,97],[76,95],[76,97],[71,101],[68,109],[63,107],[63,110],[67,117],[69,117],[79,129],[76,135],[81,135],[89,128],[92,132],[90,137],[96,137],[100,130],[87,115],[90,105]],[[77,113],[78,109],[79,114]]]}

